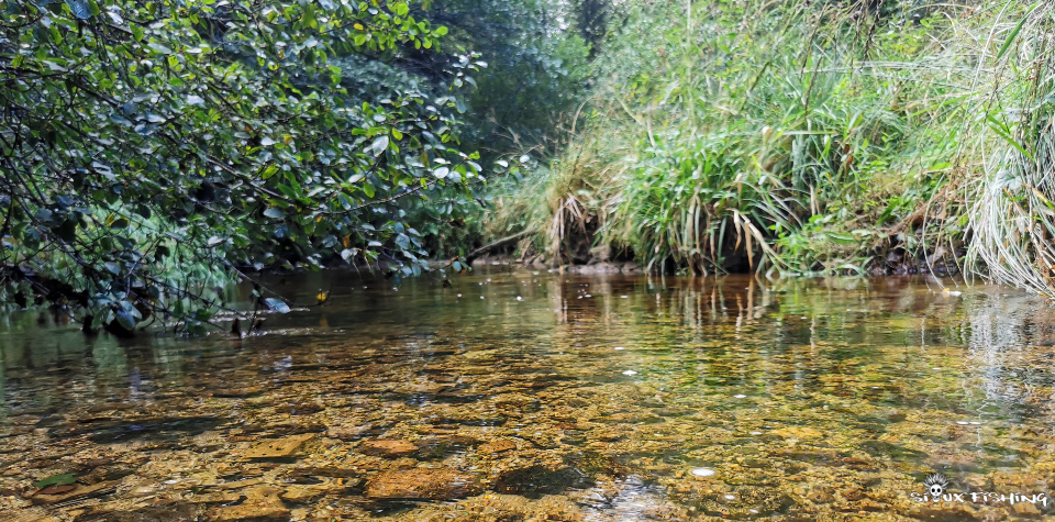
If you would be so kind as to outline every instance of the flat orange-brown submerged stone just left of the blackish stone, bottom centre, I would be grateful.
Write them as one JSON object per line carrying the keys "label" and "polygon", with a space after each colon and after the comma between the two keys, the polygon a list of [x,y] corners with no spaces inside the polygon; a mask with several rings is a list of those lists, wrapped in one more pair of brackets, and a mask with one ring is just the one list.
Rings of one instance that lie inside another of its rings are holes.
{"label": "flat orange-brown submerged stone just left of the blackish stone, bottom centre", "polygon": [[477,477],[449,468],[386,471],[366,485],[371,499],[459,499],[482,491]]}

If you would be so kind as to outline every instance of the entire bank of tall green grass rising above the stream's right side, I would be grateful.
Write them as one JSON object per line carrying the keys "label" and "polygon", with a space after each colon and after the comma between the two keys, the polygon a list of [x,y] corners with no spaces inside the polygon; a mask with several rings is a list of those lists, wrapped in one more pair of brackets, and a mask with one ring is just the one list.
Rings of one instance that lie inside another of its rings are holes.
{"label": "entire bank of tall green grass rising above the stream's right side", "polygon": [[589,233],[653,269],[956,262],[1055,296],[1053,7],[659,2],[613,36],[571,145],[504,201],[532,202],[556,259]]}

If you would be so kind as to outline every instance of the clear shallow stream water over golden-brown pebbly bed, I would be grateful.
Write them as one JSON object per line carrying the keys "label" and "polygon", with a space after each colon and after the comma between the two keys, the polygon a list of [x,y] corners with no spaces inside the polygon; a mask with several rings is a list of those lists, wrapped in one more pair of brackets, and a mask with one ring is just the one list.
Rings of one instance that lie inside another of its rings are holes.
{"label": "clear shallow stream water over golden-brown pebbly bed", "polygon": [[[234,340],[0,318],[0,511],[74,520],[997,520],[1050,493],[1046,302],[907,279],[530,273]],[[717,471],[693,474],[693,469]],[[73,474],[73,485],[33,484]],[[969,497],[967,497],[969,499]],[[1048,502],[1051,504],[1052,502]]]}

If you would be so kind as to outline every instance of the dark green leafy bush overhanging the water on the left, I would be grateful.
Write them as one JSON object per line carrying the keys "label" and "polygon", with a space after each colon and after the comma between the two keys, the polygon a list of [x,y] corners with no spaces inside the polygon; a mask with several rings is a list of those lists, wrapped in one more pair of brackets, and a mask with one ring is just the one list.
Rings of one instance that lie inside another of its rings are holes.
{"label": "dark green leafy bush overhanging the water on the left", "polygon": [[[229,270],[426,253],[402,200],[478,179],[452,93],[363,77],[447,32],[404,2],[11,0],[4,300],[189,330]],[[476,68],[448,63],[449,84]],[[453,209],[452,209],[453,210]],[[282,310],[276,296],[260,303]]]}

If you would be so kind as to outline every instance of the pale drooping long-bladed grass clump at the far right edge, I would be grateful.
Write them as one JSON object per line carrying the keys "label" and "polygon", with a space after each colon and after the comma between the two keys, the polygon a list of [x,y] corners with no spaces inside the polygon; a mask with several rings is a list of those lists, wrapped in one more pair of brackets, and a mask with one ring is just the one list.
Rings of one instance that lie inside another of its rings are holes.
{"label": "pale drooping long-bladed grass clump at the far right edge", "polygon": [[990,78],[974,122],[990,136],[980,179],[970,188],[971,262],[982,276],[1055,297],[1055,3],[1006,4],[979,54]]}

